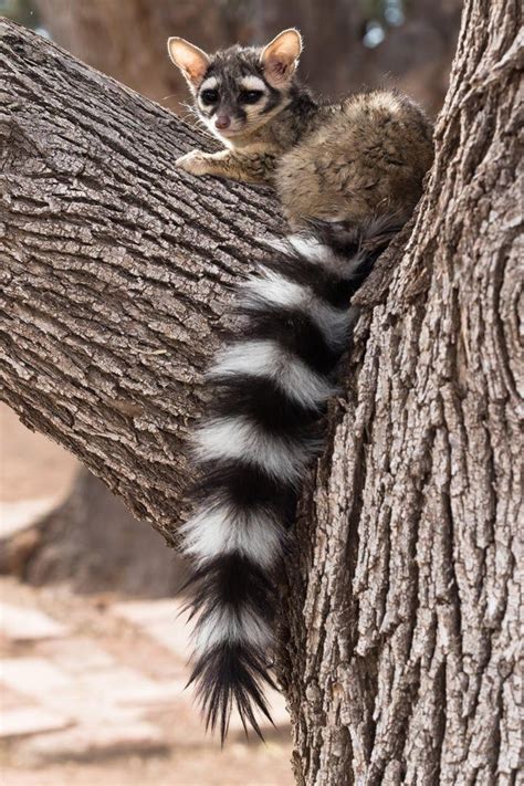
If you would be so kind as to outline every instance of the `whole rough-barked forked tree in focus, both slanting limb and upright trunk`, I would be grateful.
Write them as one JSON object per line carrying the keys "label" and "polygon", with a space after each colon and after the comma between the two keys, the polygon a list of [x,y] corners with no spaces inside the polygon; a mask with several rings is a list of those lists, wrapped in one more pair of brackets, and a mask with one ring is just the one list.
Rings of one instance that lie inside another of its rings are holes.
{"label": "whole rough-barked forked tree in focus, both slanting limb and upright trunk", "polygon": [[[302,784],[516,777],[518,14],[468,0],[413,233],[360,296],[283,615]],[[172,543],[201,369],[274,202],[177,174],[192,132],[1,33],[2,396]]]}

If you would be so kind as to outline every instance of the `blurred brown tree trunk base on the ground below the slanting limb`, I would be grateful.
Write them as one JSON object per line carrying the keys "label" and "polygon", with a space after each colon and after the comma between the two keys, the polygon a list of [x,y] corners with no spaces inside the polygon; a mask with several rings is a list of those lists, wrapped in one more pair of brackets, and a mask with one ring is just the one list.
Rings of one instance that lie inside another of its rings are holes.
{"label": "blurred brown tree trunk base on the ground below the slanting limb", "polygon": [[66,580],[77,593],[167,597],[185,577],[181,557],[87,470],[78,472],[62,505],[15,535],[6,551],[0,569],[34,585]]}

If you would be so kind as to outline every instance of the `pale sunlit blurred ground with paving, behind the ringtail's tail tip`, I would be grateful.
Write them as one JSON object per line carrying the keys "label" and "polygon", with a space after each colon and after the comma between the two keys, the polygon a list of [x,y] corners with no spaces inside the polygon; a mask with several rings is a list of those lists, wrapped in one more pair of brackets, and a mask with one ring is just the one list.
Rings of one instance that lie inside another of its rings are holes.
{"label": "pale sunlit blurred ground with paving, behind the ringtail's tail tip", "polygon": [[[206,735],[188,679],[181,604],[73,595],[15,576],[34,525],[78,464],[0,405],[1,786],[291,786],[290,726]],[[14,545],[14,548],[11,546]],[[2,670],[1,659],[4,668]]]}

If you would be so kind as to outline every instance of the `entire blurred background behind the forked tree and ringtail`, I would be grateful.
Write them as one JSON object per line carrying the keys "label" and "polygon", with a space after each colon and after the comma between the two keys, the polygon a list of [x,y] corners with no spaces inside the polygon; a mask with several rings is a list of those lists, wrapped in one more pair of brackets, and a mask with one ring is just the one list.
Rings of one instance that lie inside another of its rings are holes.
{"label": "entire blurred background behind the forked tree and ringtail", "polygon": [[[0,0],[90,65],[186,116],[168,35],[205,50],[297,27],[301,75],[337,97],[397,86],[436,116],[461,0]],[[290,724],[223,752],[203,734],[175,598],[182,562],[147,524],[0,405],[0,769],[3,786],[292,784]]]}

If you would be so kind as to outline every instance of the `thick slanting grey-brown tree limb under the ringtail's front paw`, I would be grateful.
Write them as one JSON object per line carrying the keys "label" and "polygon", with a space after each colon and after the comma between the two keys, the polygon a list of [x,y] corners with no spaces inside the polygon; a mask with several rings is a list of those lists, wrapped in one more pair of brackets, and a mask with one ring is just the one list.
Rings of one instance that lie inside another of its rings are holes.
{"label": "thick slanting grey-brown tree limb under the ringtail's front paw", "polygon": [[2,398],[172,542],[201,371],[275,203],[180,174],[198,134],[6,20],[0,63]]}

